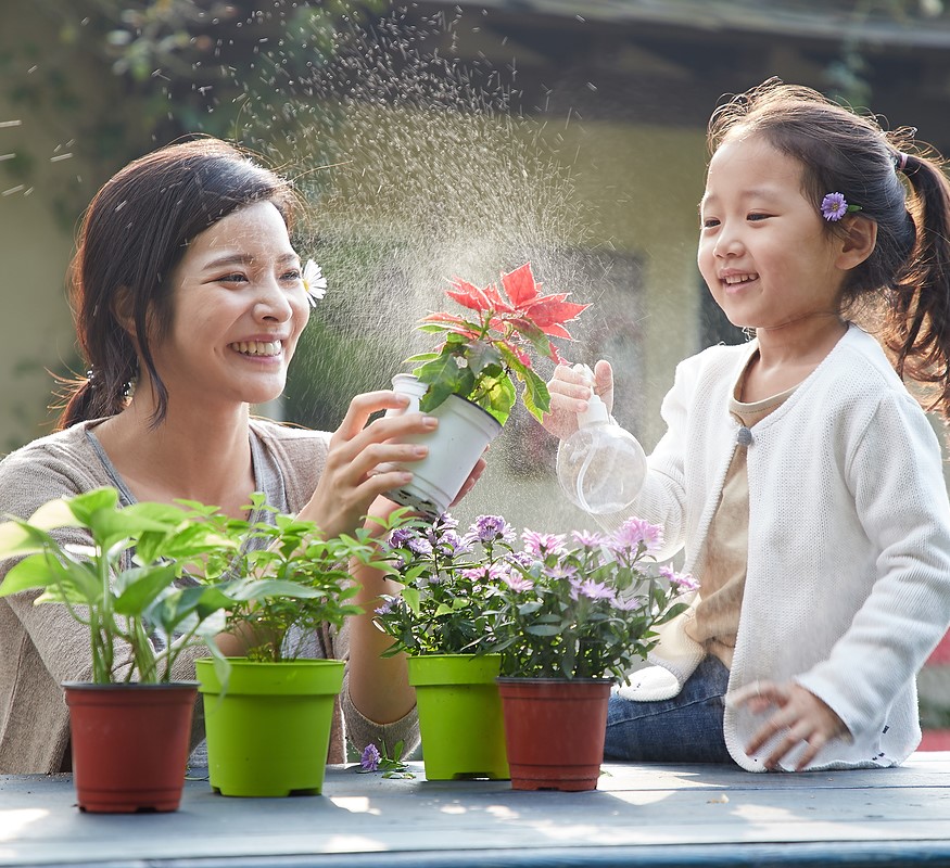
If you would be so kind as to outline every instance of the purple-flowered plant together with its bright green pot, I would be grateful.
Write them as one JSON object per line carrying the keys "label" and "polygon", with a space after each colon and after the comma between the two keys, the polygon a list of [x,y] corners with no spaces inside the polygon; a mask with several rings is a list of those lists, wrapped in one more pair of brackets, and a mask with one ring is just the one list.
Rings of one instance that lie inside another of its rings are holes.
{"label": "purple-flowered plant together with its bright green pot", "polygon": [[496,515],[479,516],[464,535],[457,526],[445,513],[390,534],[403,588],[383,597],[376,624],[394,639],[389,654],[408,655],[427,779],[507,780],[501,655],[486,653],[486,611],[498,590],[495,560],[515,534]]}

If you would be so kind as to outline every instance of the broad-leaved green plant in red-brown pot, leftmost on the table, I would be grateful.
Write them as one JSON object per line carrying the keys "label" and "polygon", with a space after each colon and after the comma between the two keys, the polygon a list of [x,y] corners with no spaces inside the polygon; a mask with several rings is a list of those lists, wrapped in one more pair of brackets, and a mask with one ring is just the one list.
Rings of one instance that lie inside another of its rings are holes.
{"label": "broad-leaved green plant in red-brown pot, leftmost on the table", "polygon": [[197,685],[176,680],[175,663],[223,627],[229,601],[175,583],[233,544],[185,507],[119,508],[110,487],[8,519],[0,559],[22,560],[0,596],[40,590],[37,603],[64,605],[88,629],[91,681],[64,685],[79,808],[177,809]]}

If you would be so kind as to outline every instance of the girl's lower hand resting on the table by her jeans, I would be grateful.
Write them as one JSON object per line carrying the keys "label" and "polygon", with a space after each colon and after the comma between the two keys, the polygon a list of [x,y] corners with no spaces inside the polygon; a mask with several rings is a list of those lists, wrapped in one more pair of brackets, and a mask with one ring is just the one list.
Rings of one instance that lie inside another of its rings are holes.
{"label": "girl's lower hand resting on the table by her jeans", "polygon": [[735,691],[729,701],[733,705],[747,705],[756,714],[777,707],[746,748],[751,756],[776,732],[787,730],[765,760],[768,769],[775,768],[783,757],[806,742],[795,765],[795,770],[801,771],[831,739],[848,732],[831,706],[795,681],[753,681]]}

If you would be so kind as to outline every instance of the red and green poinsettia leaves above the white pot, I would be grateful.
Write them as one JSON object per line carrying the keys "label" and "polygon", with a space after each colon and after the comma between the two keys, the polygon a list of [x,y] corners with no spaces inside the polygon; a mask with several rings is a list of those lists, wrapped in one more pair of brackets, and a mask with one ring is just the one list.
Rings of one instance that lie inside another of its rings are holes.
{"label": "red and green poinsettia leaves above the white pot", "polygon": [[501,291],[494,283],[479,289],[459,278],[451,282],[445,294],[472,314],[436,312],[420,321],[419,329],[444,337],[438,352],[407,359],[419,366],[413,373],[427,385],[420,409],[428,412],[449,395],[458,395],[505,424],[518,399],[517,379],[524,385],[524,406],[541,420],[550,395],[532,370],[532,356],[560,362],[550,339],[572,340],[563,323],[577,319],[588,305],[568,302],[568,293],[542,295],[531,263],[502,275]]}

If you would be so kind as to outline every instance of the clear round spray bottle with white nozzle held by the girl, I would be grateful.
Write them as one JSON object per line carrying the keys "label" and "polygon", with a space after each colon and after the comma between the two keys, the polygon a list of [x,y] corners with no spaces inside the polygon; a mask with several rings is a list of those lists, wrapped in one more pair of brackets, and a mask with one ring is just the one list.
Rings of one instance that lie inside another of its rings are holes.
{"label": "clear round spray bottle with white nozzle held by the girl", "polygon": [[593,394],[594,372],[586,365],[575,365],[573,370],[587,376],[591,397],[587,409],[578,413],[578,430],[558,447],[558,482],[568,499],[585,512],[619,512],[643,488],[646,456]]}

